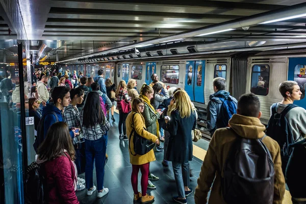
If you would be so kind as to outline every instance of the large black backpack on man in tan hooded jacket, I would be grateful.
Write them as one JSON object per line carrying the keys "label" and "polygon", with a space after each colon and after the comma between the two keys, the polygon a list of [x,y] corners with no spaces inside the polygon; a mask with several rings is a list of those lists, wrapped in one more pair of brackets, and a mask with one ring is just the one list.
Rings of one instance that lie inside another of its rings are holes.
{"label": "large black backpack on man in tan hooded jacket", "polygon": [[223,167],[223,199],[227,204],[272,204],[275,172],[270,151],[262,142],[265,136],[237,137]]}

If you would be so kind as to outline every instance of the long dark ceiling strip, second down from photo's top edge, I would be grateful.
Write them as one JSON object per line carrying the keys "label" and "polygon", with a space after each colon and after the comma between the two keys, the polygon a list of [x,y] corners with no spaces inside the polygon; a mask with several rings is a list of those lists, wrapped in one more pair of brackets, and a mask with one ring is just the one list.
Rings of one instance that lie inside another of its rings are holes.
{"label": "long dark ceiling strip, second down from photo's top edge", "polygon": [[126,11],[126,10],[107,10],[107,9],[85,9],[85,8],[61,8],[51,7],[49,13],[60,14],[90,14],[90,15],[117,15],[117,16],[159,16],[168,18],[210,18],[210,19],[236,19],[244,16],[222,15],[222,14],[201,14],[201,13],[174,13],[156,11]]}

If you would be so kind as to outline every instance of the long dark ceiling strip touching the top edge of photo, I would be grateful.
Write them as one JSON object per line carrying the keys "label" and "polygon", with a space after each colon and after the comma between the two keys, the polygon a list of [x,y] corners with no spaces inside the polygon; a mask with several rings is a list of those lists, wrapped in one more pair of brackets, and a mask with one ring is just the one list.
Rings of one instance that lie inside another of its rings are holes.
{"label": "long dark ceiling strip touching the top edge of photo", "polygon": [[[152,3],[148,3],[143,0],[73,0],[73,2],[92,2],[92,3],[118,3],[118,4],[138,4],[138,5],[170,5],[170,6],[196,6],[206,8],[218,8],[218,9],[248,9],[248,10],[274,10],[286,7],[285,5],[274,5],[274,4],[256,4],[256,3],[245,3],[245,2],[223,2],[223,1],[198,1],[198,0],[155,0]],[[153,3],[154,2],[154,3]]]}

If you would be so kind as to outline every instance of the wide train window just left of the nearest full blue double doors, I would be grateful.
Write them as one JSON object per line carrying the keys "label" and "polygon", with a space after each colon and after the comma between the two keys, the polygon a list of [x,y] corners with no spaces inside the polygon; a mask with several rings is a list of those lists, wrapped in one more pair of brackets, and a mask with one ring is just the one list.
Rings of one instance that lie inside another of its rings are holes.
{"label": "wide train window just left of the nearest full blue double doors", "polygon": [[162,65],[161,81],[168,84],[179,84],[179,65]]}

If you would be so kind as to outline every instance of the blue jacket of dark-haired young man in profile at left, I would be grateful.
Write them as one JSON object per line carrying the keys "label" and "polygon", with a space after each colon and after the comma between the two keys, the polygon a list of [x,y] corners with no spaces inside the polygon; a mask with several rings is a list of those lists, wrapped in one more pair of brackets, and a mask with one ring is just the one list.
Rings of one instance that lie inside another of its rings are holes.
{"label": "blue jacket of dark-haired young man in profile at left", "polygon": [[[57,122],[55,115],[53,115],[51,112],[55,112],[58,117],[58,122],[64,122],[62,111],[56,106],[54,106],[54,104],[49,103],[45,107],[43,107],[41,118],[46,115],[46,117],[44,118],[44,138],[47,135],[49,127]],[[72,132],[72,130],[70,130],[70,136],[71,138],[74,138],[74,133]]]}

